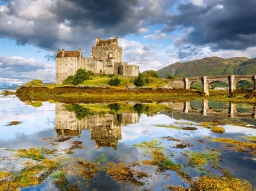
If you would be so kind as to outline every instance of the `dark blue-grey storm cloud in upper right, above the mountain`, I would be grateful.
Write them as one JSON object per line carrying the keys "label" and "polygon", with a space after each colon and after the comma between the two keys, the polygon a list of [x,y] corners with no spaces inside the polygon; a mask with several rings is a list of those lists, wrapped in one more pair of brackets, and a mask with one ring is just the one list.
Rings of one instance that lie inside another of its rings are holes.
{"label": "dark blue-grey storm cloud in upper right, above the mountain", "polygon": [[203,6],[180,4],[179,14],[166,22],[165,31],[192,29],[177,45],[209,45],[212,50],[243,50],[256,45],[256,1],[205,1]]}

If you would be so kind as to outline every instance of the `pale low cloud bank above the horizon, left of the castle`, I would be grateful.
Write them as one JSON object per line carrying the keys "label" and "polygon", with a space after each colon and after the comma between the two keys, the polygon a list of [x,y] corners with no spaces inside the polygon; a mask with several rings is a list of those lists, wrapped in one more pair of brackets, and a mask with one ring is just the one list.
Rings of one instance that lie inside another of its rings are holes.
{"label": "pale low cloud bank above the horizon, left of the castle", "polygon": [[55,70],[52,66],[32,58],[0,56],[0,73],[0,84],[22,84],[32,79],[41,79],[44,82],[55,81]]}

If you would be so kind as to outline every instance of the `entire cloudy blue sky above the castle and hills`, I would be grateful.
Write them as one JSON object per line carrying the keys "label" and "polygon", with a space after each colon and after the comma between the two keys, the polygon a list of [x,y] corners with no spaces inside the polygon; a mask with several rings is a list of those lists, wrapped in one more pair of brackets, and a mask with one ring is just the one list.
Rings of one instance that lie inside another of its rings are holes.
{"label": "entire cloudy blue sky above the castle and hills", "polygon": [[0,0],[0,85],[55,82],[57,49],[89,57],[118,36],[140,71],[204,57],[256,57],[255,0]]}

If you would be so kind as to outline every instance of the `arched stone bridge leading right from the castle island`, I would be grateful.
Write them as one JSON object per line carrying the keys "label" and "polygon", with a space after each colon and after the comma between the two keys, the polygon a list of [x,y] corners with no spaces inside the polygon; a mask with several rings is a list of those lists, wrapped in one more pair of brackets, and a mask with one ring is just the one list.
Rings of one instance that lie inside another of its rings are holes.
{"label": "arched stone bridge leading right from the castle island", "polygon": [[253,83],[253,89],[256,89],[256,75],[219,75],[212,77],[193,77],[193,78],[176,78],[168,79],[169,86],[172,88],[182,88],[188,90],[192,83],[199,82],[203,85],[203,93],[209,95],[209,86],[214,82],[225,82],[229,84],[229,92],[236,90],[236,84],[243,80]]}

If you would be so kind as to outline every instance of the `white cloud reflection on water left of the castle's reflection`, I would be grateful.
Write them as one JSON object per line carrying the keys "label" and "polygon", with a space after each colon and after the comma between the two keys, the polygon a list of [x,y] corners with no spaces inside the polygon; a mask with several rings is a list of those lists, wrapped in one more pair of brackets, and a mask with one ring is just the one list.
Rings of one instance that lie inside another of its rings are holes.
{"label": "white cloud reflection on water left of the castle's reflection", "polygon": [[[46,125],[43,122],[48,119],[54,121],[55,104],[44,103],[43,107],[34,108],[31,105],[20,104],[20,100],[16,97],[0,97],[0,105],[0,139],[6,140],[20,135],[32,134],[55,126],[55,123]],[[22,121],[22,124],[5,126],[11,121]]]}

